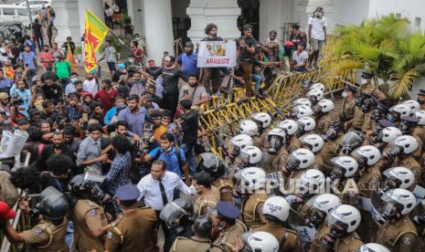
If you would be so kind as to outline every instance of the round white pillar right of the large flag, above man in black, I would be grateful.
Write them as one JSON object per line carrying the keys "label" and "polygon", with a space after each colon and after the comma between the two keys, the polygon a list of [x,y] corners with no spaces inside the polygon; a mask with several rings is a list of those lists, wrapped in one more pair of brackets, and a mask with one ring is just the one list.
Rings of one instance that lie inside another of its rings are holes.
{"label": "round white pillar right of the large flag, above man in black", "polygon": [[161,64],[164,51],[173,54],[171,0],[144,0],[144,28],[147,58]]}

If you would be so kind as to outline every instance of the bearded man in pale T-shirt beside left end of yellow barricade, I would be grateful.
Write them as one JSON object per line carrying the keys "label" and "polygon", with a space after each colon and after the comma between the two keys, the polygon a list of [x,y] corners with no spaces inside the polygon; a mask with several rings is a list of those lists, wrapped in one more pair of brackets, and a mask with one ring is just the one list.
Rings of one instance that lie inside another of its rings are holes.
{"label": "bearded man in pale T-shirt beside left end of yellow barricade", "polygon": [[200,106],[208,101],[207,89],[199,86],[197,74],[191,73],[188,77],[188,83],[180,89],[178,100],[191,100],[193,106]]}

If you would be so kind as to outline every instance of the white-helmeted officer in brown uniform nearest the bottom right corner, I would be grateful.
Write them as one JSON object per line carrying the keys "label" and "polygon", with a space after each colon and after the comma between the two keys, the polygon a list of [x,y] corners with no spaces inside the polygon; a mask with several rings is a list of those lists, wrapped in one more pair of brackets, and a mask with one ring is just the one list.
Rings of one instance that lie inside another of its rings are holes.
{"label": "white-helmeted officer in brown uniform nearest the bottom right corner", "polygon": [[416,205],[415,196],[406,189],[391,189],[381,197],[377,243],[391,251],[413,251],[418,234],[409,218]]}

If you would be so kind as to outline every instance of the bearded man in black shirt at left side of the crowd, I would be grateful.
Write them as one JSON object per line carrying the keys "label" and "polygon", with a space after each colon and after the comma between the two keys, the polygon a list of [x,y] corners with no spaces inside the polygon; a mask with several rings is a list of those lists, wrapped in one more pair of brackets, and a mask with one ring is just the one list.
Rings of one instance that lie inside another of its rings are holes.
{"label": "bearded man in black shirt at left side of the crowd", "polygon": [[34,163],[31,163],[31,167],[36,168],[38,171],[46,171],[46,163],[48,158],[55,154],[64,154],[73,158],[72,150],[63,142],[63,133],[61,131],[56,131],[53,133],[52,144],[48,144],[44,147],[43,151],[38,155],[37,160]]}

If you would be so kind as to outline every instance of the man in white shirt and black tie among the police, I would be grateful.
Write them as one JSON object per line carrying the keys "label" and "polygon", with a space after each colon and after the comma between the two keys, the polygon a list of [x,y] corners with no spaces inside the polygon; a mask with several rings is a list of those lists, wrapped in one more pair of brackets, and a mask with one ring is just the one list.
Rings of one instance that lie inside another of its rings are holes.
{"label": "man in white shirt and black tie among the police", "polygon": [[[160,183],[164,185],[166,202],[163,199]],[[140,180],[137,188],[140,191],[140,198],[144,198],[144,204],[155,211],[163,209],[166,203],[173,202],[175,189],[183,194],[192,194],[190,188],[177,174],[165,171],[165,163],[159,160],[154,161],[151,173]]]}

